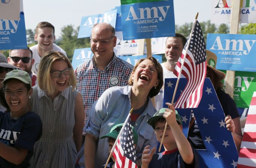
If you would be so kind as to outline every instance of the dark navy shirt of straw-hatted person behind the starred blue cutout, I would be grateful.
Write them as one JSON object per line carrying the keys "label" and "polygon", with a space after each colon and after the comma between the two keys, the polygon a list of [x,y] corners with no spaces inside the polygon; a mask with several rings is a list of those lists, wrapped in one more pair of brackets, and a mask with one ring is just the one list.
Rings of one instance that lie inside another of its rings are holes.
{"label": "dark navy shirt of straw-hatted person behind the starred blue cutout", "polygon": [[[238,110],[236,108],[235,101],[230,97],[229,94],[226,94],[224,91],[216,91],[219,102],[221,103],[222,109],[225,116],[230,115],[232,119],[239,117]],[[200,134],[197,122],[195,121],[188,133],[188,141],[196,149],[205,149],[203,139]]]}

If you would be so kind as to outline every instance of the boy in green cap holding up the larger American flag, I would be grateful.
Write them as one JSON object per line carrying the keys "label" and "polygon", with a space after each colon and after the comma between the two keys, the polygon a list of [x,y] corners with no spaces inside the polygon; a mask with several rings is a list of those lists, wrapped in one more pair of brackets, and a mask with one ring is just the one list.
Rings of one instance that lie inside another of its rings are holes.
{"label": "boy in green cap holding up the larger American flag", "polygon": [[182,132],[182,121],[178,112],[171,103],[166,103],[168,108],[162,108],[149,118],[147,123],[155,130],[157,140],[161,142],[165,123],[168,126],[163,140],[165,151],[155,153],[146,146],[142,153],[142,168],[197,168],[199,167],[198,154],[191,147]]}

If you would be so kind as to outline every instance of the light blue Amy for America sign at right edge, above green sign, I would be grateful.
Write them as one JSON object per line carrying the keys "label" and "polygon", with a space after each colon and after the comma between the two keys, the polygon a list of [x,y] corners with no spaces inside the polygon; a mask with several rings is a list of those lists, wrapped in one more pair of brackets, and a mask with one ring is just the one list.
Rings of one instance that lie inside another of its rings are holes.
{"label": "light blue Amy for America sign at right edge, above green sign", "polygon": [[256,72],[256,35],[208,34],[206,49],[217,56],[219,70]]}

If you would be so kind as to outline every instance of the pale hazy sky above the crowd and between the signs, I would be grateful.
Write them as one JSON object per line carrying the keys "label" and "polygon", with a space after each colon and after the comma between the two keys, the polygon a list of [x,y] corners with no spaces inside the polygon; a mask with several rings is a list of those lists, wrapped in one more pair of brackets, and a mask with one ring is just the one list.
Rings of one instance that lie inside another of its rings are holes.
{"label": "pale hazy sky above the crowd and between the signs", "polygon": [[[174,0],[175,24],[210,20],[211,0]],[[115,6],[120,0],[23,0],[26,29],[34,30],[41,21],[48,21],[55,27],[56,38],[67,25],[80,26],[83,16],[101,14]]]}

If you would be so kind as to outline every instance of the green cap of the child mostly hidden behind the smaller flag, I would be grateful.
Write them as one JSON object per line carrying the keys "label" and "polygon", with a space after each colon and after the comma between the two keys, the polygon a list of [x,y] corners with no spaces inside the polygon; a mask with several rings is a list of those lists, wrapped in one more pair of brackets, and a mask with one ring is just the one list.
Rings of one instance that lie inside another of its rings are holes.
{"label": "green cap of the child mostly hidden behind the smaller flag", "polygon": [[[103,135],[101,137],[102,138],[113,138],[113,139],[116,139],[120,130],[122,129],[122,126],[123,126],[123,123],[122,124],[117,124],[115,125],[114,127],[111,128],[110,132],[107,133],[106,135]],[[137,132],[134,130],[134,127],[131,126],[132,129],[133,129],[133,139],[134,139],[134,144],[137,144],[138,142],[138,134]]]}

